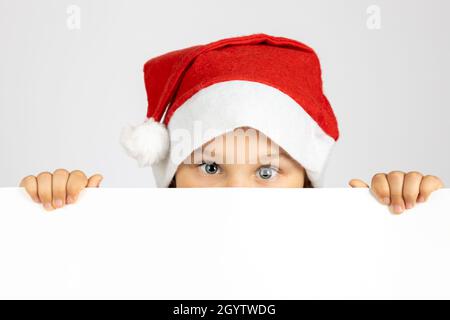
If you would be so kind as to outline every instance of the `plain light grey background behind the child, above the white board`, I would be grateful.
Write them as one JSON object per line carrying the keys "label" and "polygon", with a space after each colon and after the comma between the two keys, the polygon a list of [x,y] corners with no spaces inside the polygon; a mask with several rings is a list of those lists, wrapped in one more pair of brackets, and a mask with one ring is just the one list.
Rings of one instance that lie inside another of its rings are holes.
{"label": "plain light grey background behind the child, above the white board", "polygon": [[[66,9],[81,8],[81,29]],[[366,26],[370,5],[381,29]],[[154,186],[118,142],[145,119],[142,65],[230,36],[291,37],[318,53],[341,136],[329,187],[419,170],[450,183],[450,2],[0,0],[0,187],[63,167],[106,187]]]}

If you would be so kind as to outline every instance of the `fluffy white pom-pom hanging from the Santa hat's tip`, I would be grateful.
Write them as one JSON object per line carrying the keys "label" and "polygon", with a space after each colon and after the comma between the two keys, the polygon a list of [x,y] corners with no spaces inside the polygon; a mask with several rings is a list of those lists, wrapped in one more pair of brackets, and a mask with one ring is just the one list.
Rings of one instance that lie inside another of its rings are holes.
{"label": "fluffy white pom-pom hanging from the Santa hat's tip", "polygon": [[169,150],[169,133],[163,123],[148,118],[144,123],[122,129],[120,143],[139,167],[150,166],[164,159]]}

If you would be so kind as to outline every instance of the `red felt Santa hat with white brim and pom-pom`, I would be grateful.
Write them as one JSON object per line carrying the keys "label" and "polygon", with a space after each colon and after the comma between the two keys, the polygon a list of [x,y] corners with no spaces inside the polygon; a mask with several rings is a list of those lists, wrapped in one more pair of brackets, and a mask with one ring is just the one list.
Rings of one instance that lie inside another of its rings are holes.
{"label": "red felt Santa hat with white brim and pom-pom", "polygon": [[[266,34],[222,39],[150,59],[144,79],[147,119],[125,127],[121,144],[140,167],[152,167],[158,187],[192,151],[244,126],[282,147],[314,187],[323,185],[339,130],[319,59],[305,44]],[[195,141],[180,139],[180,130]]]}

